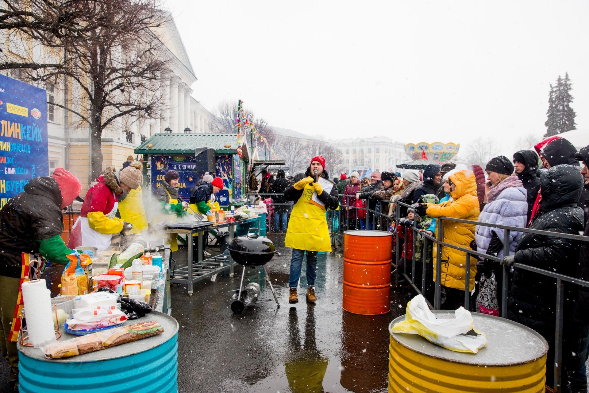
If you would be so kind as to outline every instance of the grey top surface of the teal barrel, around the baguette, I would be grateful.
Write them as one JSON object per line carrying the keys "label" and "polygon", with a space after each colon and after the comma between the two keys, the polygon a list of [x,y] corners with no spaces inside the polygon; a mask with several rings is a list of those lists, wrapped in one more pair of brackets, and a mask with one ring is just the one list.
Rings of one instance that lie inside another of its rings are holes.
{"label": "grey top surface of the teal barrel, around the baguette", "polygon": [[[45,357],[45,352],[41,348],[33,348],[32,346],[23,346],[20,341],[18,342],[18,351],[23,355],[29,356],[29,358],[35,358],[47,362],[58,362],[58,363],[85,363],[85,362],[98,362],[110,359],[124,358],[125,356],[135,355],[140,352],[149,351],[164,344],[178,332],[178,322],[171,316],[152,311],[147,315],[133,320],[127,320],[125,325],[133,325],[134,323],[141,323],[144,321],[157,321],[164,328],[164,332],[156,336],[144,338],[133,342],[127,342],[113,346],[112,348],[102,349],[101,351],[90,352],[88,354],[82,354],[78,356],[72,356],[71,358],[64,359],[50,359]],[[64,332],[60,329],[61,337],[58,342],[62,342],[71,338],[80,337],[70,333]]]}

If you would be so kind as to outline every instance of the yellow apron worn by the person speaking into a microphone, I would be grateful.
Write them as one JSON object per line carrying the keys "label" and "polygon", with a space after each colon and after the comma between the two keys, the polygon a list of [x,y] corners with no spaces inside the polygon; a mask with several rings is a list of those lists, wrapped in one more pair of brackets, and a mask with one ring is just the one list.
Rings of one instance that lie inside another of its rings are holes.
{"label": "yellow apron worn by the person speaking into a microphone", "polygon": [[325,207],[311,202],[313,186],[307,184],[290,213],[284,246],[307,251],[331,252]]}

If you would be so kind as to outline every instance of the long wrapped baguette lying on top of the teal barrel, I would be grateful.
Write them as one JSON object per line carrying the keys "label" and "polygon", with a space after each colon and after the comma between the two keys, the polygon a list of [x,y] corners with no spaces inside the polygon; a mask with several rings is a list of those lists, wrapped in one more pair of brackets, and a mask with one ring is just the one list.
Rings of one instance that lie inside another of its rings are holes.
{"label": "long wrapped baguette lying on top of the teal barrel", "polygon": [[69,358],[100,351],[111,346],[137,341],[142,338],[155,336],[164,332],[157,321],[145,321],[134,325],[119,326],[102,332],[91,333],[85,336],[57,342],[45,347],[45,356],[51,359]]}

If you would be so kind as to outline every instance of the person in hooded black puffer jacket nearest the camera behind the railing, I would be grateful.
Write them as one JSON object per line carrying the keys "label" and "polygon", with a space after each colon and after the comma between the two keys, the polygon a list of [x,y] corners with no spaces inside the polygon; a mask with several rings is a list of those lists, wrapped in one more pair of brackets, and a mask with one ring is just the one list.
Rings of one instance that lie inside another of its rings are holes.
{"label": "person in hooded black puffer jacket nearest the camera behind the railing", "polygon": [[[578,167],[567,164],[538,170],[542,193],[540,211],[530,229],[578,235],[583,230],[583,210],[577,206],[583,177]],[[560,237],[522,233],[515,255],[504,258],[504,265],[513,262],[538,267],[573,278],[580,278],[580,242]],[[587,360],[589,328],[580,316],[574,315],[578,287],[565,285],[564,340],[562,343],[562,386],[568,386],[568,373],[577,371]],[[508,318],[540,333],[548,341],[546,384],[554,377],[554,331],[556,288],[555,279],[515,267],[508,302]],[[586,312],[586,311],[585,311]],[[567,388],[568,389],[568,388]],[[563,391],[570,391],[563,389]]]}

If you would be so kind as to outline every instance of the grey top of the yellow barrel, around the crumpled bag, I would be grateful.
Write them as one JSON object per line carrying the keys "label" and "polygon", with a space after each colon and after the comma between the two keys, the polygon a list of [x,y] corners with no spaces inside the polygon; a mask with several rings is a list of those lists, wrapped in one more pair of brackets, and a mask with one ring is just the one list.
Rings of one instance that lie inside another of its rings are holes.
{"label": "grey top of the yellow barrel, around the crumpled bag", "polygon": [[[436,318],[454,318],[454,311],[433,310]],[[537,332],[509,319],[472,313],[475,329],[487,336],[487,346],[477,354],[455,352],[433,344],[418,334],[391,333],[393,325],[405,321],[405,315],[393,319],[389,333],[399,344],[425,356],[445,361],[481,366],[508,366],[535,361],[548,352],[548,343]]]}

